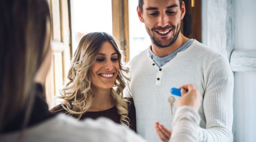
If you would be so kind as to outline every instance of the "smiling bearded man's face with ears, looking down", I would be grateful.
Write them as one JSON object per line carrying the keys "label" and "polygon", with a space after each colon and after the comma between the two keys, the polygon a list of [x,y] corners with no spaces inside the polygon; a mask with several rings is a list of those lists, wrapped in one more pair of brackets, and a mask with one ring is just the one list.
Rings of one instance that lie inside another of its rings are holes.
{"label": "smiling bearded man's face with ears, looking down", "polygon": [[143,12],[138,7],[137,12],[152,42],[162,48],[171,46],[180,33],[181,19],[185,15],[184,3],[180,9],[179,0],[143,1]]}

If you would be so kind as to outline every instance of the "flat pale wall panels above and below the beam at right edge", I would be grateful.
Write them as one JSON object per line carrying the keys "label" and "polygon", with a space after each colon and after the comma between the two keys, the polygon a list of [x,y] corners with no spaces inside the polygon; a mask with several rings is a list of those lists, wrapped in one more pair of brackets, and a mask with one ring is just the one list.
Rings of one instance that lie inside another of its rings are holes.
{"label": "flat pale wall panels above and below the beam at right edge", "polygon": [[[233,2],[234,48],[256,50],[256,1]],[[234,141],[256,142],[256,72],[235,72],[234,82]]]}

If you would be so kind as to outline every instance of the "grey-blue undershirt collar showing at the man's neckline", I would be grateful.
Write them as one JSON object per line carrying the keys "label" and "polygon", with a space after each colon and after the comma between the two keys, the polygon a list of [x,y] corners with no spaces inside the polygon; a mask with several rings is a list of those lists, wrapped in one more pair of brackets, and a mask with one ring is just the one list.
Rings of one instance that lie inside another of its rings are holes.
{"label": "grey-blue undershirt collar showing at the man's neckline", "polygon": [[170,60],[172,60],[178,52],[184,51],[186,50],[193,42],[195,41],[195,39],[189,39],[186,43],[184,43],[180,48],[178,48],[177,50],[175,50],[174,52],[172,52],[171,54],[164,56],[164,57],[159,57],[157,55],[155,55],[152,50],[151,50],[151,46],[149,46],[148,48],[148,52],[151,55],[151,59],[153,59],[153,61],[155,62],[155,64],[157,64],[157,66],[160,68],[163,65],[165,65],[166,63],[168,63]]}

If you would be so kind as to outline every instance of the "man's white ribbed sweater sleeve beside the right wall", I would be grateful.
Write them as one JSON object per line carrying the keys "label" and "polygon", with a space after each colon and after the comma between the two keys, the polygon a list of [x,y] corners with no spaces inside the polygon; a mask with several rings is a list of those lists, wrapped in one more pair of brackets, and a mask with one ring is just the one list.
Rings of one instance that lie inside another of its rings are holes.
{"label": "man's white ribbed sweater sleeve beside the right wall", "polygon": [[206,129],[200,128],[200,141],[233,141],[234,78],[229,62],[223,56],[204,70],[203,111]]}

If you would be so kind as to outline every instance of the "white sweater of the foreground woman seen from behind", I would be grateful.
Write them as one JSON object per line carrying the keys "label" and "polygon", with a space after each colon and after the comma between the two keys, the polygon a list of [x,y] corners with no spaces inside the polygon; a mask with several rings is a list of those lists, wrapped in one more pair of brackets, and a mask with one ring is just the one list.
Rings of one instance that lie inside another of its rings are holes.
{"label": "white sweater of the foreground woman seen from behind", "polygon": [[[196,142],[200,122],[198,113],[191,107],[178,109],[170,142]],[[21,135],[20,135],[21,134]],[[19,137],[21,136],[21,137]],[[59,114],[45,122],[28,128],[24,133],[14,132],[0,135],[1,142],[144,142],[126,126],[114,123],[107,118],[97,120],[75,118]]]}

